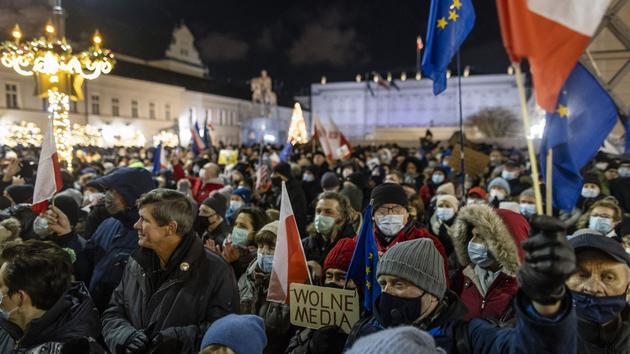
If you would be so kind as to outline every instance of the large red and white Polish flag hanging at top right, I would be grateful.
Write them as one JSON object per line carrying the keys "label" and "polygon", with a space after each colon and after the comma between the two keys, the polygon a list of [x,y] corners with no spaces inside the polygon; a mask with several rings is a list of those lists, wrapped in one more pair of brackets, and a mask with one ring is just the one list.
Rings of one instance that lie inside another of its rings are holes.
{"label": "large red and white Polish flag hanging at top right", "polygon": [[536,101],[556,110],[558,95],[597,30],[610,0],[497,0],[503,45],[527,57]]}

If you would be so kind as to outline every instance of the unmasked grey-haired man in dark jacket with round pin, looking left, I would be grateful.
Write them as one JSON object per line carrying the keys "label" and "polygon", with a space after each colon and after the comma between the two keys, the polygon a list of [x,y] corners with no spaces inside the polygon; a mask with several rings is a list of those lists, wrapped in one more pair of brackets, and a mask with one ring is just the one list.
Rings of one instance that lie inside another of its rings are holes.
{"label": "unmasked grey-haired man in dark jacket with round pin, looking left", "polygon": [[238,313],[236,280],[223,259],[191,232],[182,193],[156,189],[138,200],[138,248],[103,313],[113,353],[196,353],[215,320]]}

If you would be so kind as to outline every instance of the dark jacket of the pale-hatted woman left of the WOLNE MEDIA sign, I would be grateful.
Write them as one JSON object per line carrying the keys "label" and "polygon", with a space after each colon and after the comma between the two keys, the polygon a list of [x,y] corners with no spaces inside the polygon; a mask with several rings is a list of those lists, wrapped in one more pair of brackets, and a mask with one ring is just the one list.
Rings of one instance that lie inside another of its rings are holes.
{"label": "dark jacket of the pale-hatted woman left of the WOLNE MEDIA sign", "polygon": [[241,313],[260,316],[265,321],[268,344],[265,353],[283,353],[291,333],[289,306],[267,301],[269,274],[263,273],[254,259],[238,280]]}

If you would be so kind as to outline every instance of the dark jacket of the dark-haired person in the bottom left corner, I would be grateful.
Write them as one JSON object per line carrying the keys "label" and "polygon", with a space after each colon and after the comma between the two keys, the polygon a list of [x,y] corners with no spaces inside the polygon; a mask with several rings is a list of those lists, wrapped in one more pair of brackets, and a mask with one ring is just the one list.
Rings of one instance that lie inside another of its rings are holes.
{"label": "dark jacket of the dark-haired person in the bottom left corner", "polygon": [[96,342],[100,332],[98,311],[90,294],[83,283],[73,283],[42,317],[31,321],[26,332],[0,319],[0,352],[105,353]]}

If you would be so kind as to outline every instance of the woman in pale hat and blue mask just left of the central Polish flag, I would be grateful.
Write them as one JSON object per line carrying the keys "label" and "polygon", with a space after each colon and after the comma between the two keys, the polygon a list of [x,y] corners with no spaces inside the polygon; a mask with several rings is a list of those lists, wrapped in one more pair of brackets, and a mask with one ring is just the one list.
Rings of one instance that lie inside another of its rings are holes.
{"label": "woman in pale hat and blue mask just left of the central Polish flag", "polygon": [[278,221],[265,225],[256,234],[257,256],[238,280],[241,314],[260,316],[265,322],[268,345],[265,353],[283,353],[291,337],[289,306],[267,301],[269,277],[278,235]]}

